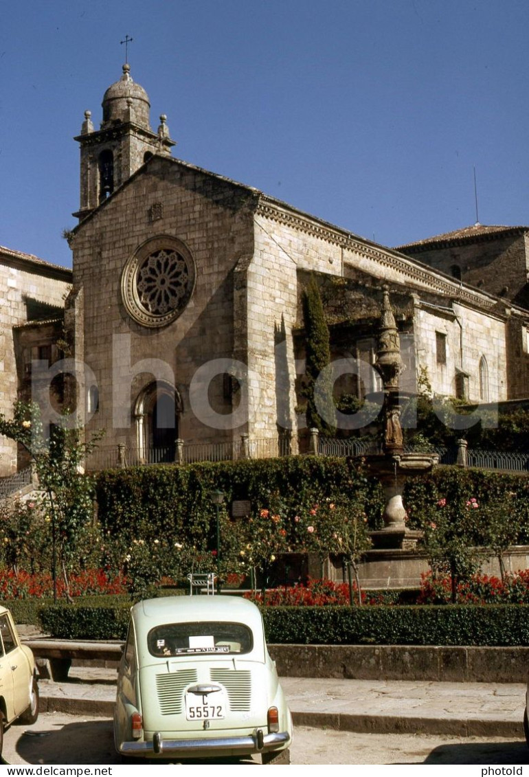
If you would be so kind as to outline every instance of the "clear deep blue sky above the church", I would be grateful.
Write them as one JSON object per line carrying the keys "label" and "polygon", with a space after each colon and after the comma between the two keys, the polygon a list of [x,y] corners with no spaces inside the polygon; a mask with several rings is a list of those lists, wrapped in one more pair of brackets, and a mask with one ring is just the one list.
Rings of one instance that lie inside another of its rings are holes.
{"label": "clear deep blue sky above the church", "polygon": [[71,265],[83,113],[388,246],[529,224],[527,0],[0,0],[0,245]]}

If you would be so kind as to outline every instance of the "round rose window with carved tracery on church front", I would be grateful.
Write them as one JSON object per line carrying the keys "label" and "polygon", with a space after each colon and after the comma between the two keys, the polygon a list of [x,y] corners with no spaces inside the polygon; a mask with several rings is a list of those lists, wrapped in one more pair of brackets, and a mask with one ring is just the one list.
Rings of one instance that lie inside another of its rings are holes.
{"label": "round rose window with carved tracery on church front", "polygon": [[174,238],[161,237],[145,243],[128,260],[121,294],[127,312],[137,322],[164,326],[183,312],[194,283],[195,265],[186,246]]}

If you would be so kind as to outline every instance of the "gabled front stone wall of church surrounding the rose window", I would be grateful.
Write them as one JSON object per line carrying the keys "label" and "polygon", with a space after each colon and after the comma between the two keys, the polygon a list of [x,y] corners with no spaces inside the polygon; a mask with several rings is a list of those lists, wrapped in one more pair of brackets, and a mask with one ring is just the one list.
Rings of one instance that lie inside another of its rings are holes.
{"label": "gabled front stone wall of church surrounding the rose window", "polygon": [[[244,431],[202,423],[190,408],[189,387],[204,363],[230,358],[234,352],[234,271],[241,258],[253,252],[249,200],[247,190],[156,157],[141,176],[133,176],[79,225],[72,245],[75,287],[83,292],[77,304],[84,309],[79,321],[84,338],[76,335],[75,340],[78,349],[84,349],[77,357],[89,365],[99,387],[99,410],[89,420],[89,429],[106,430],[103,447],[137,446],[134,409],[153,372],[174,385],[181,398],[177,433],[186,442],[231,439]],[[138,247],[157,235],[186,246],[196,265],[196,284],[176,320],[149,328],[128,314],[121,277]],[[239,351],[239,357],[245,357],[244,352]],[[120,395],[118,378],[124,380]],[[210,399],[219,413],[231,410],[221,381],[211,381]],[[113,418],[117,406],[124,410],[119,427]]]}

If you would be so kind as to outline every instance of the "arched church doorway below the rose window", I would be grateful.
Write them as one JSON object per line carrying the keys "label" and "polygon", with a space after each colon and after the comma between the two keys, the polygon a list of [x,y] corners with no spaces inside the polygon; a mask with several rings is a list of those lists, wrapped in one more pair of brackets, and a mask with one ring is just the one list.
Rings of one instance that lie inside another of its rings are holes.
{"label": "arched church doorway below the rose window", "polygon": [[182,410],[182,399],[173,385],[154,381],[143,389],[134,407],[141,461],[148,464],[175,461]]}

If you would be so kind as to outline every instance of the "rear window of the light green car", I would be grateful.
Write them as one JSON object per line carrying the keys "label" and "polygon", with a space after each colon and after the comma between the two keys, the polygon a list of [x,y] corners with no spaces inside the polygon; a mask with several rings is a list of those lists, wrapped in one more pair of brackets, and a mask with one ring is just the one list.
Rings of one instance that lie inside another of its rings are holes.
{"label": "rear window of the light green car", "polygon": [[148,633],[148,650],[156,658],[230,655],[252,650],[252,632],[242,623],[166,623]]}

